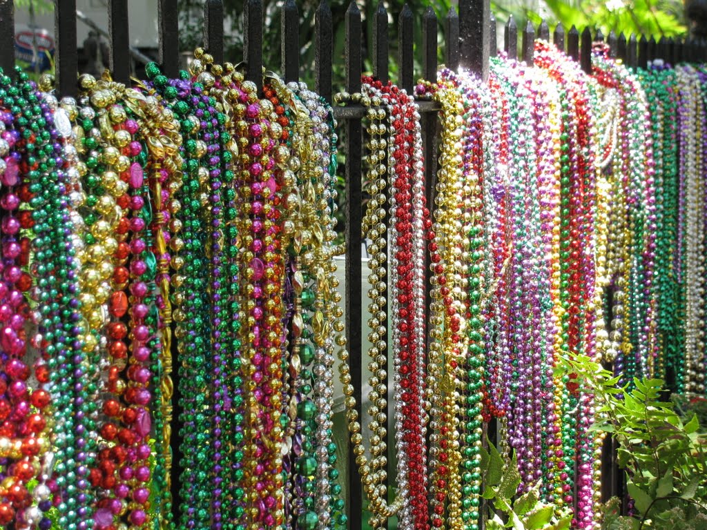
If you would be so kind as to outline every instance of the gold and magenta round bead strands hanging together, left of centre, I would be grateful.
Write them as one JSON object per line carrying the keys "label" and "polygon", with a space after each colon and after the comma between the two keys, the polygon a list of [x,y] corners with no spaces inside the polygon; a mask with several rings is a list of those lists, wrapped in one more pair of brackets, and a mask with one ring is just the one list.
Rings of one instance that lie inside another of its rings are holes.
{"label": "gold and magenta round bead strands hanging together, left of centre", "polygon": [[[246,93],[255,95],[257,92],[255,84],[248,81],[242,84],[242,88]],[[271,475],[275,471],[274,451],[280,451],[280,442],[276,440],[280,440],[282,434],[279,424],[281,354],[278,348],[271,345],[281,341],[279,322],[274,320],[279,321],[284,315],[274,317],[271,314],[271,311],[281,307],[281,298],[269,298],[269,310],[262,304],[264,295],[276,295],[279,290],[276,280],[284,272],[282,266],[276,269],[279,261],[276,252],[279,249],[273,252],[276,250],[274,244],[278,226],[274,222],[276,208],[272,205],[277,186],[273,176],[275,162],[272,151],[282,129],[276,122],[269,121],[272,112],[274,105],[267,99],[248,105],[246,115],[257,121],[249,124],[244,131],[249,143],[243,150],[243,170],[238,175],[238,192],[244,213],[239,218],[238,232],[246,249],[239,256],[240,270],[244,275],[241,292],[245,296],[245,318],[240,334],[243,337],[241,343],[245,346],[244,358],[247,359],[244,362],[245,373],[250,379],[246,383],[246,411],[250,411],[247,422],[250,424],[249,441],[244,455],[250,469],[245,473],[245,495],[252,506],[249,514],[249,527],[252,529],[270,526],[276,518],[283,517],[282,508],[276,508],[280,500],[276,495],[282,487],[281,475]],[[267,322],[264,322],[268,316]],[[278,416],[272,418],[267,411],[276,411]],[[269,513],[269,510],[273,511]]]}

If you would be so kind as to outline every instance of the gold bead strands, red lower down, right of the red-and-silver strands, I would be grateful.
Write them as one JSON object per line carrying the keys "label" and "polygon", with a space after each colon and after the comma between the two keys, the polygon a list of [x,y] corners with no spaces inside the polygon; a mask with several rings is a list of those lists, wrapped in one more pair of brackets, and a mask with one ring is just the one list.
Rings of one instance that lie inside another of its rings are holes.
{"label": "gold bead strands, red lower down, right of the red-and-silver strands", "polygon": [[[454,206],[460,204],[457,193],[463,178],[463,160],[457,154],[457,143],[464,130],[461,118],[463,105],[457,91],[453,73],[443,71],[436,86],[426,86],[433,100],[441,105],[442,142],[440,143],[440,170],[437,175],[436,210],[433,213],[434,238],[428,249],[431,253],[431,307],[428,349],[427,389],[430,396],[430,493],[431,523],[435,528],[445,524],[445,502],[450,497],[449,516],[455,525],[460,524],[461,510],[459,488],[452,490],[450,483],[458,482],[458,465],[461,460],[459,445],[459,419],[455,413],[458,357],[461,356],[462,319],[460,293],[456,289],[455,263],[461,249],[460,216]],[[461,285],[459,285],[461,287]]]}

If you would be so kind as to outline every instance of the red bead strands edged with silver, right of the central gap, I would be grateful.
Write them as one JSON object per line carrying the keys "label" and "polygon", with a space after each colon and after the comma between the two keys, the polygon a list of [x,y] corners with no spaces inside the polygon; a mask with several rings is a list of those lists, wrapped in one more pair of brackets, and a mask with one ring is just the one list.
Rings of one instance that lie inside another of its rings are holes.
{"label": "red bead strands edged with silver, right of the central gap", "polygon": [[[397,360],[396,376],[399,382],[396,403],[401,410],[396,412],[397,447],[404,452],[398,459],[398,474],[407,474],[407,488],[411,495],[409,505],[404,508],[400,524],[416,529],[423,528],[427,521],[426,501],[426,457],[423,449],[424,430],[423,372],[423,227],[427,211],[423,204],[423,175],[421,150],[420,115],[414,99],[403,90],[380,82],[372,83],[379,88],[382,100],[391,107],[392,126],[395,130],[396,179],[390,189],[392,205],[391,225],[397,235],[392,238],[390,255],[391,271],[397,281],[397,295],[392,298],[394,320],[394,355]],[[408,181],[408,182],[406,182]],[[402,488],[402,486],[399,486]]]}

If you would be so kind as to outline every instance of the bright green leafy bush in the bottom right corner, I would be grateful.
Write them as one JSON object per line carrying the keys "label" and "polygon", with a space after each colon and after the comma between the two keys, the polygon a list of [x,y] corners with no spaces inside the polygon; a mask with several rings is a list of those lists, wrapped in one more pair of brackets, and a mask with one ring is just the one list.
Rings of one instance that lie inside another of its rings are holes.
{"label": "bright green leafy bush in the bottom right corner", "polygon": [[619,442],[618,464],[626,471],[636,517],[621,516],[615,502],[604,511],[602,528],[703,529],[707,523],[707,435],[695,414],[686,421],[675,411],[660,379],[635,379],[621,389],[618,378],[579,356],[565,358],[559,375],[578,375],[580,386],[596,398],[594,430]]}

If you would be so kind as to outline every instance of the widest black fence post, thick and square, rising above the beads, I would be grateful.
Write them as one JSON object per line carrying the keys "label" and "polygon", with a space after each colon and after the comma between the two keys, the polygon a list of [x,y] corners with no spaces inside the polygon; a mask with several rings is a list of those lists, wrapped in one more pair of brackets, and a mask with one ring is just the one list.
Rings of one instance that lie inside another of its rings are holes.
{"label": "widest black fence post, thick and square, rising above the beads", "polygon": [[490,13],[489,0],[459,1],[461,65],[481,79],[489,77]]}

